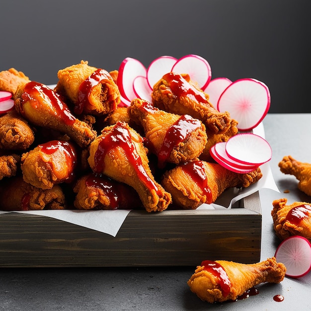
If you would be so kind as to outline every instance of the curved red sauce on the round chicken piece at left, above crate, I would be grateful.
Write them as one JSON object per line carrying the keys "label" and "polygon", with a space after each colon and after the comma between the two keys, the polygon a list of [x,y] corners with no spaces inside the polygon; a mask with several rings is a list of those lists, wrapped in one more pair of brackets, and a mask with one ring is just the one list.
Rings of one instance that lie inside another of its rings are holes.
{"label": "curved red sauce on the round chicken piece at left, above crate", "polygon": [[66,165],[71,172],[70,176],[68,176],[67,181],[72,181],[74,177],[74,168],[77,163],[77,155],[75,149],[68,142],[63,141],[50,141],[45,144],[38,145],[38,147],[47,155],[54,154],[57,150],[60,150],[66,156]]}

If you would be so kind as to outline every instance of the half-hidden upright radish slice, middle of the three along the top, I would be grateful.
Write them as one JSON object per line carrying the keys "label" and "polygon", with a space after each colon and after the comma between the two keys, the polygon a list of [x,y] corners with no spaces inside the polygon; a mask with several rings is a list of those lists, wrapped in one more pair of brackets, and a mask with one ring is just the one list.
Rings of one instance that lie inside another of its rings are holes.
{"label": "half-hidden upright radish slice, middle of the three along the top", "polygon": [[177,58],[172,56],[160,56],[156,58],[147,68],[147,80],[153,89],[156,82],[165,74],[170,73],[172,67],[177,62]]}

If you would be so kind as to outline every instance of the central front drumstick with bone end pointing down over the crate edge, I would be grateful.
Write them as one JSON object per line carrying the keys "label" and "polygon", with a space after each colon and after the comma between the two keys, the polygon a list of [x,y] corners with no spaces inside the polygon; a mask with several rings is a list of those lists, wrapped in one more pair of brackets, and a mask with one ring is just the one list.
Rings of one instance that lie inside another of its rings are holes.
{"label": "central front drumstick with bone end pointing down over the crate edge", "polygon": [[143,138],[127,123],[103,129],[90,145],[88,163],[95,173],[133,187],[148,212],[163,211],[171,196],[152,175]]}

